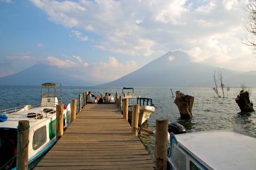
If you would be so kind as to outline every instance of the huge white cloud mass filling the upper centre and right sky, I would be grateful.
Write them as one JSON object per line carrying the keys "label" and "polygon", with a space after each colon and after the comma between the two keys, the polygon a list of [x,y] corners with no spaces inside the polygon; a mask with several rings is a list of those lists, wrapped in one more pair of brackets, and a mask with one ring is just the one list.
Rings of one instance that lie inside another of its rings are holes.
{"label": "huge white cloud mass filling the upper centre and right sky", "polygon": [[89,38],[74,29],[97,35],[95,49],[153,58],[158,52],[181,49],[194,62],[230,67],[233,61],[239,70],[255,70],[234,61],[251,55],[239,42],[247,33],[247,0],[31,2],[50,21],[72,28],[79,40]]}

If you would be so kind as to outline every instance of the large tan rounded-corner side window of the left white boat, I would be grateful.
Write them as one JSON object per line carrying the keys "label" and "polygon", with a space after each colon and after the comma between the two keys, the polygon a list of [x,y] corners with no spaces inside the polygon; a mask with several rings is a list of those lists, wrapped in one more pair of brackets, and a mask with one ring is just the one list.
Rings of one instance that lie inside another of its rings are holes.
{"label": "large tan rounded-corner side window of the left white boat", "polygon": [[41,147],[42,145],[44,145],[44,143],[46,142],[47,136],[46,136],[46,126],[44,125],[43,127],[37,129],[34,132],[34,136],[33,136],[33,149],[36,150],[39,147]]}

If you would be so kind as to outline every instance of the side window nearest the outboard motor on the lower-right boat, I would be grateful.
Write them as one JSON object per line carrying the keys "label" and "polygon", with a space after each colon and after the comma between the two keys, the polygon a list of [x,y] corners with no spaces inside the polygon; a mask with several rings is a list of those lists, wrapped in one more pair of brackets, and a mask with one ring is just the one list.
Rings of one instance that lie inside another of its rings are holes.
{"label": "side window nearest the outboard motor on the lower-right boat", "polygon": [[172,162],[177,169],[185,170],[186,169],[186,156],[177,148],[173,146],[172,151]]}

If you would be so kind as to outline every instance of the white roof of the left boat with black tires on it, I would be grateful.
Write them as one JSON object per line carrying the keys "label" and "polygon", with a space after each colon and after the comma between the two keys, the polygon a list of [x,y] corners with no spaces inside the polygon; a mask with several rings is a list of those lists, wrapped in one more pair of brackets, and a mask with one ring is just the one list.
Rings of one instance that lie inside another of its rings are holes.
{"label": "white roof of the left boat with black tires on it", "polygon": [[6,116],[8,117],[7,120],[5,122],[0,122],[0,128],[14,128],[17,129],[17,126],[19,124],[19,121],[21,120],[28,120],[29,121],[29,125],[30,127],[33,127],[41,122],[44,122],[46,119],[51,118],[52,116],[54,116],[55,114],[46,114],[43,113],[43,118],[41,119],[35,119],[35,118],[28,118],[27,114],[28,113],[41,113],[43,111],[44,108],[47,109],[55,109],[55,107],[34,107],[34,108],[30,108],[26,111],[19,111],[16,113],[12,113],[12,114],[6,114]]}

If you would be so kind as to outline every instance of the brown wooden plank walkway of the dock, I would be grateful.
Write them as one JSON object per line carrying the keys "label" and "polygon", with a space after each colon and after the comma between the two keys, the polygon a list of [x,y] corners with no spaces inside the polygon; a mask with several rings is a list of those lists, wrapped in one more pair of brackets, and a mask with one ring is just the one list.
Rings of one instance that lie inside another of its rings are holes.
{"label": "brown wooden plank walkway of the dock", "polygon": [[115,104],[86,105],[39,169],[154,169],[138,137]]}

